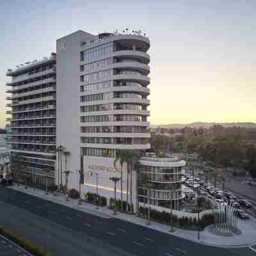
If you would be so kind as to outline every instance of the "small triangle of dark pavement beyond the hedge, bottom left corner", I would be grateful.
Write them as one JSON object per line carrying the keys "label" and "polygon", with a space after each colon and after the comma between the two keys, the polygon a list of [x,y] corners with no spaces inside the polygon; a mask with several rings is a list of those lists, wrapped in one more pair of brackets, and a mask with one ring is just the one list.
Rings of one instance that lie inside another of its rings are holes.
{"label": "small triangle of dark pavement beyond the hedge, bottom left corner", "polygon": [[0,235],[0,255],[2,256],[31,256],[30,253],[22,250],[19,246],[8,241],[5,237]]}

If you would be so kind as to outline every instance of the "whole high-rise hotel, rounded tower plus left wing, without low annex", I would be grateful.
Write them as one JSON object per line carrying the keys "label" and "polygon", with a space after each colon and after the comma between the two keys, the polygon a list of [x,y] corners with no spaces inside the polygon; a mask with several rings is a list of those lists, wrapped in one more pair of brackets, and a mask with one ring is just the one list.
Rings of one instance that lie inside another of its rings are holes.
{"label": "whole high-rise hotel, rounded tower plus left wing, without low annex", "polygon": [[[84,170],[82,195],[96,192],[97,176],[99,195],[113,197],[109,177],[120,175],[120,168],[113,164],[118,152],[131,149],[143,153],[150,148],[149,47],[148,38],[134,31],[92,35],[79,30],[56,41],[56,58],[9,70],[7,75],[13,81],[8,85],[15,93],[12,152],[21,153],[26,161],[40,159],[34,165],[41,164],[41,170],[45,168],[42,160],[56,161],[54,182],[64,184],[60,170],[70,170],[68,188],[78,188],[77,170]],[[44,126],[47,124],[50,127]],[[55,154],[60,145],[63,152]],[[54,170],[54,165],[51,167]],[[132,174],[135,204],[136,173]],[[123,175],[127,175],[126,164]],[[126,179],[123,188],[124,194],[129,193]]]}

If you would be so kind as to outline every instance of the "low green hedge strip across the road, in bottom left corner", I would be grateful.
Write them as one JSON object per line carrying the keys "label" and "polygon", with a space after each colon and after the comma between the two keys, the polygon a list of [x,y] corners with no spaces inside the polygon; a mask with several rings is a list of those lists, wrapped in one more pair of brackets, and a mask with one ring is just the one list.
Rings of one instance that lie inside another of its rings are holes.
{"label": "low green hedge strip across the road, in bottom left corner", "polygon": [[22,238],[20,235],[15,234],[3,226],[0,226],[0,234],[7,237],[14,243],[18,244],[21,248],[24,248],[24,250],[27,250],[35,256],[51,256],[50,252],[45,251],[42,247]]}

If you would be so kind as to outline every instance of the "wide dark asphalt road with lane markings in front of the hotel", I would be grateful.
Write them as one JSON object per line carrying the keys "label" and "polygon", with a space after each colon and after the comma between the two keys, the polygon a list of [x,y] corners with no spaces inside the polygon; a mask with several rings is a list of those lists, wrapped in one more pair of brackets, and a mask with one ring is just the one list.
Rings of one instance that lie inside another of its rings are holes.
{"label": "wide dark asphalt road with lane markings in front of the hotel", "polygon": [[0,223],[47,248],[53,256],[255,256],[250,248],[205,246],[115,218],[99,218],[3,186],[0,209]]}

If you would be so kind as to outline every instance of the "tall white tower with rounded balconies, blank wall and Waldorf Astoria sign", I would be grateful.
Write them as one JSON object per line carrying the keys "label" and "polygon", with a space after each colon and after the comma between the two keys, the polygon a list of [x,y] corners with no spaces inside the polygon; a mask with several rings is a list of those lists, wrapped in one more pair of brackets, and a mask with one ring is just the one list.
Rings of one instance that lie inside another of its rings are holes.
{"label": "tall white tower with rounded balconies, blank wall and Waldorf Astoria sign", "polygon": [[[68,188],[78,189],[77,170],[83,169],[87,183],[82,185],[82,193],[93,191],[95,177],[90,173],[95,170],[90,166],[105,164],[113,168],[118,150],[150,148],[149,46],[145,36],[111,33],[95,36],[83,31],[57,40],[56,146],[62,145],[70,152],[67,170],[72,173]],[[61,158],[64,171],[65,157]],[[56,166],[57,184],[59,170],[60,165]],[[113,182],[107,179],[113,174],[106,176],[99,172],[99,195],[113,197]],[[124,193],[125,180],[126,177]],[[135,186],[136,182],[132,183]],[[119,192],[117,196],[120,198]],[[135,196],[136,193],[132,195],[134,200]]]}

